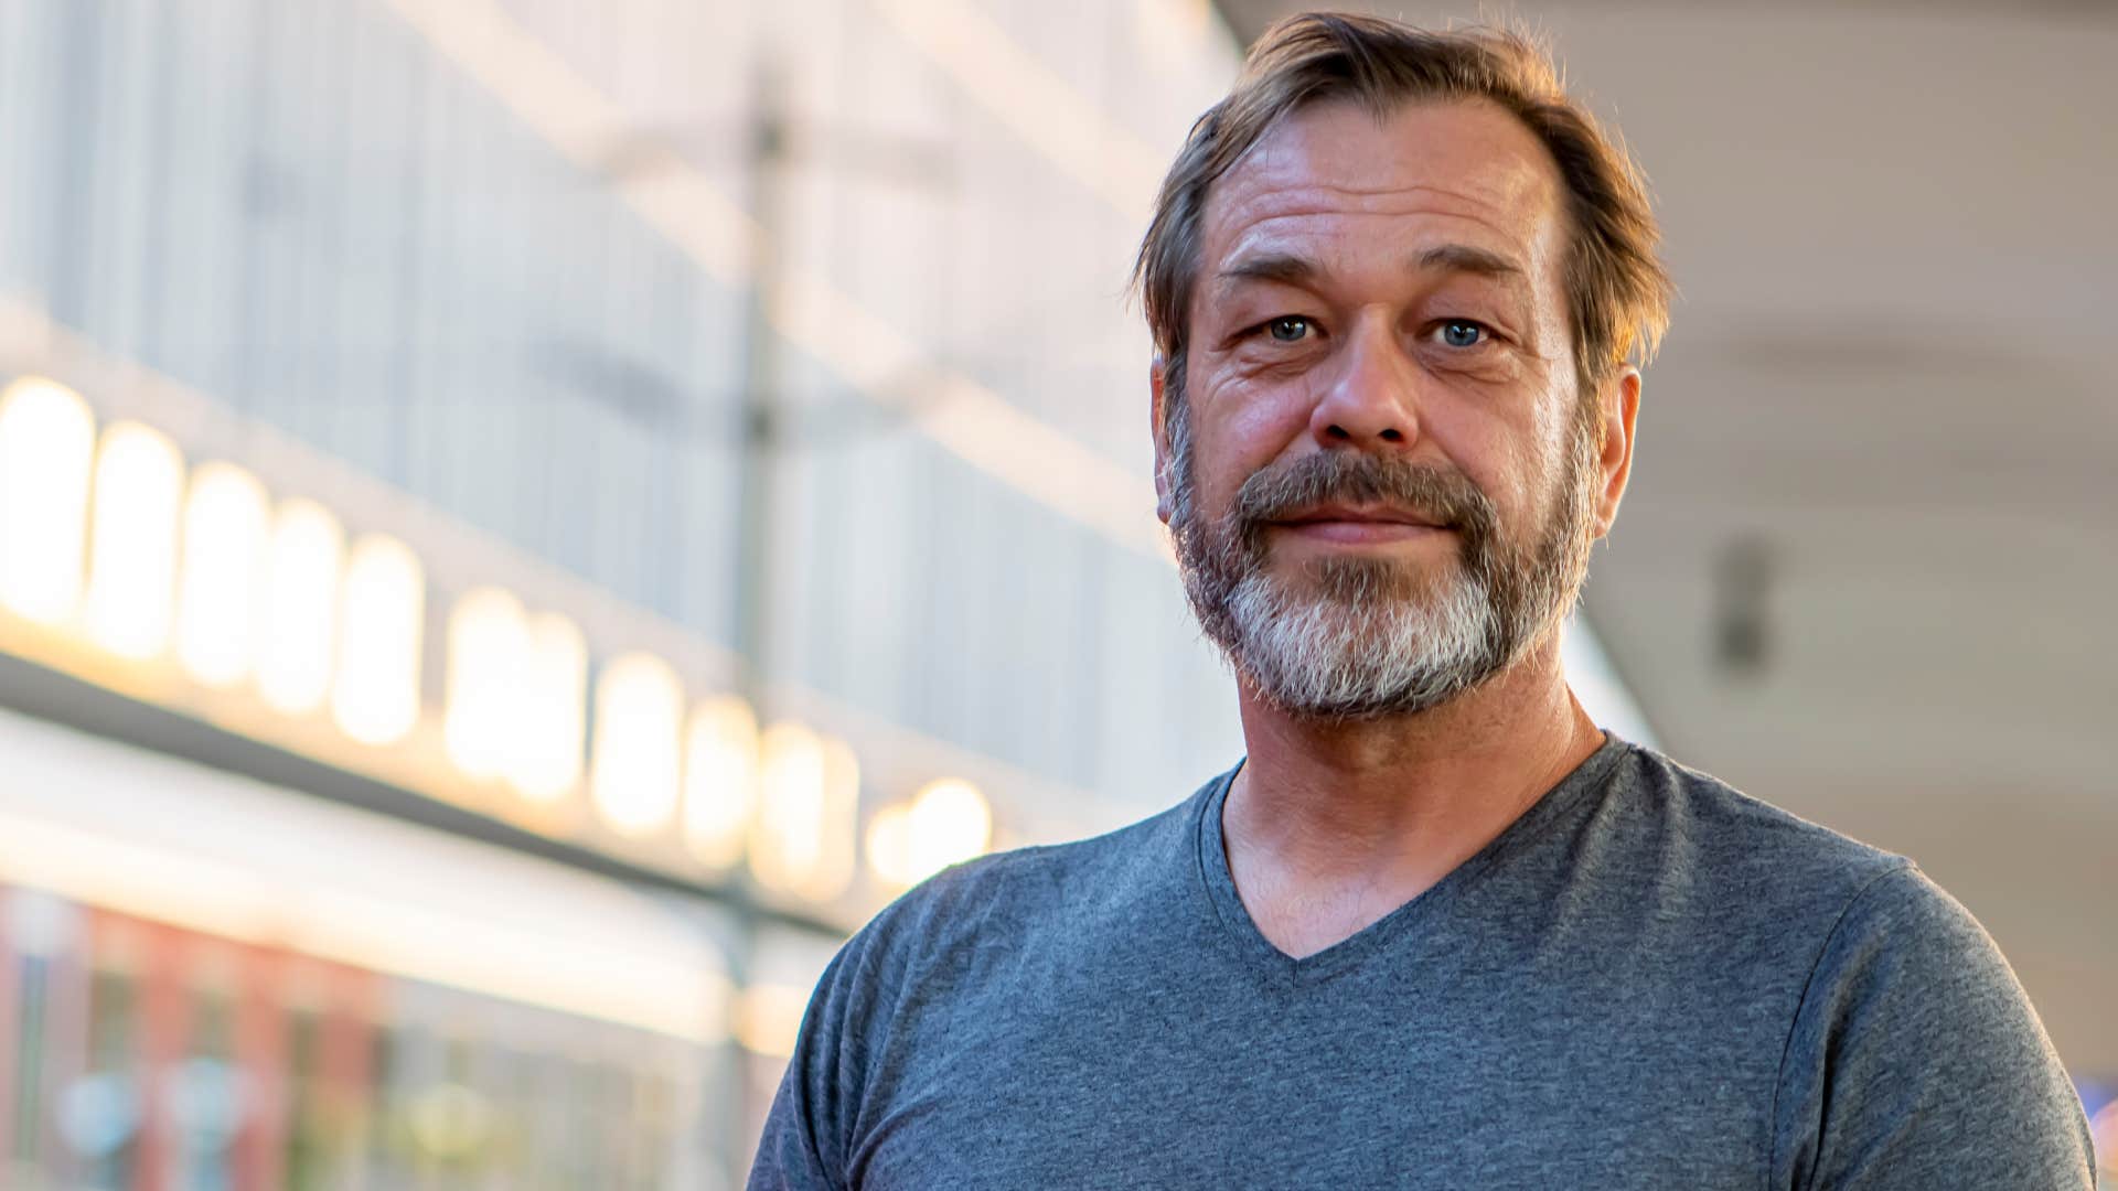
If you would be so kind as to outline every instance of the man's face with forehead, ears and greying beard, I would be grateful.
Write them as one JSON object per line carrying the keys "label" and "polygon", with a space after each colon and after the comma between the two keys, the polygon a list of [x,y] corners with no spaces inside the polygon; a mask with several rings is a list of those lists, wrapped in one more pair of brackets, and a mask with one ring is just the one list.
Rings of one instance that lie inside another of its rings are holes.
{"label": "man's face with forehead, ears and greying beard", "polygon": [[1192,608],[1271,704],[1417,712],[1572,604],[1616,496],[1561,212],[1489,104],[1315,104],[1214,184],[1156,447]]}

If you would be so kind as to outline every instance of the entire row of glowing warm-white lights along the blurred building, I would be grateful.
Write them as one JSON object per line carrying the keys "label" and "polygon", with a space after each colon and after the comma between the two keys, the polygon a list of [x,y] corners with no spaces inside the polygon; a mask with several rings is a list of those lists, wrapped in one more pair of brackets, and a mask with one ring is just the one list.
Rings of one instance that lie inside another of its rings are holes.
{"label": "entire row of glowing warm-white lights along the blurred building", "polygon": [[[375,748],[419,721],[426,574],[400,540],[347,540],[322,504],[277,504],[248,470],[184,466],[140,422],[97,434],[66,386],[0,390],[0,606],[127,661],[174,657],[210,689],[250,682],[286,716],[328,712]],[[686,708],[652,653],[608,659],[593,682],[582,632],[500,587],[447,617],[443,744],[470,780],[551,805],[587,782],[625,837],[680,831],[705,867],[748,858],[769,890],[832,901],[854,877],[860,767],[801,723],[758,729],[733,695]],[[976,786],[930,782],[868,820],[875,879],[904,888],[991,846]]]}

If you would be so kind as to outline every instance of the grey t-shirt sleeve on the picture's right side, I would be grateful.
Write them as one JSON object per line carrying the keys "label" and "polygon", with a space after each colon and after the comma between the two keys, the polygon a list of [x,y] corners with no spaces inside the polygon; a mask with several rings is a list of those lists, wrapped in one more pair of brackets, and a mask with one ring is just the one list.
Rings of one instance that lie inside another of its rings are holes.
{"label": "grey t-shirt sleeve on the picture's right side", "polygon": [[1908,863],[1824,941],[1773,1115],[1771,1187],[2095,1187],[2082,1102],[2014,971]]}

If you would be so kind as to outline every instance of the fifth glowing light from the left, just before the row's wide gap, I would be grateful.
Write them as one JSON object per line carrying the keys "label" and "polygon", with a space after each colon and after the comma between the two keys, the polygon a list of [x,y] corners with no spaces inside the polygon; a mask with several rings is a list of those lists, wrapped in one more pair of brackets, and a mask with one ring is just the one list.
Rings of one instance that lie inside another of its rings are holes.
{"label": "fifth glowing light from the left, just before the row's wide gap", "polygon": [[419,723],[419,655],[426,646],[426,570],[385,534],[354,540],[345,555],[339,665],[330,718],[360,744],[402,740]]}

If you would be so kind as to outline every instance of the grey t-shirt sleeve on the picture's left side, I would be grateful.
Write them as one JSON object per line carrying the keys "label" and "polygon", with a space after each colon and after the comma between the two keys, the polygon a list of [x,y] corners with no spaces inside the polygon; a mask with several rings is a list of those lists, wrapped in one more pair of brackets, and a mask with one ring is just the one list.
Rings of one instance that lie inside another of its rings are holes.
{"label": "grey t-shirt sleeve on the picture's left side", "polygon": [[849,1187],[845,1166],[866,1085],[862,1030],[873,1026],[873,979],[864,979],[868,943],[862,932],[841,947],[809,996],[794,1055],[750,1163],[750,1191]]}

